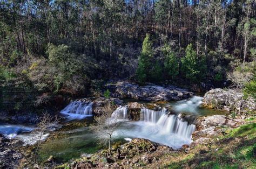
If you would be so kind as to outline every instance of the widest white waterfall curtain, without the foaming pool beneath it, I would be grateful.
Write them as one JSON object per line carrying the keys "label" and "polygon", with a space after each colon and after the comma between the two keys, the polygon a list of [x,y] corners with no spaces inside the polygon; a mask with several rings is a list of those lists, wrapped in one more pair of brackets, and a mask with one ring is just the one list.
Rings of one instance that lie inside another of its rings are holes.
{"label": "widest white waterfall curtain, without the foaming pool beneath it", "polygon": [[188,122],[178,118],[177,115],[167,115],[166,112],[165,108],[159,111],[143,108],[140,120],[156,124],[161,129],[162,134],[174,133],[180,137],[191,139],[196,126],[188,124]]}

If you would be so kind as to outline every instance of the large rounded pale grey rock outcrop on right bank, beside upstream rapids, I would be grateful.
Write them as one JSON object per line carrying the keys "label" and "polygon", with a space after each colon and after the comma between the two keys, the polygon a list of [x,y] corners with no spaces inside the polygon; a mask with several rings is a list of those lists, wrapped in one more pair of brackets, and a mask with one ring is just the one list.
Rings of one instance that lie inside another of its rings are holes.
{"label": "large rounded pale grey rock outcrop on right bank, beside upstream rapids", "polygon": [[[235,90],[212,89],[204,95],[203,105],[205,107],[215,108],[224,111],[239,111],[242,100],[242,93]],[[244,109],[241,111],[256,111],[256,103],[253,99],[246,100]]]}

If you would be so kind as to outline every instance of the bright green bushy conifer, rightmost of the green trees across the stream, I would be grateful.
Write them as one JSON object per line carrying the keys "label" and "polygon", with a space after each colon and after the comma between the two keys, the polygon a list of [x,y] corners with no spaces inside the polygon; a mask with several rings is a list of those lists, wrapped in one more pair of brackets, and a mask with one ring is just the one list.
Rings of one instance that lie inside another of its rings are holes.
{"label": "bright green bushy conifer, rightmost of the green trees across the stream", "polygon": [[204,56],[199,57],[193,49],[192,44],[187,45],[186,55],[181,58],[181,71],[185,78],[196,82],[204,79],[206,71],[206,62]]}

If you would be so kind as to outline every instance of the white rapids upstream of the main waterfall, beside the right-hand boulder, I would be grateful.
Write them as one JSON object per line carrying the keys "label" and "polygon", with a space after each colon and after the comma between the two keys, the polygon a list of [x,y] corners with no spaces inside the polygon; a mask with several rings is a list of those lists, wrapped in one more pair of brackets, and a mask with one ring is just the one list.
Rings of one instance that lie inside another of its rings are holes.
{"label": "white rapids upstream of the main waterfall, beside the right-hand boulder", "polygon": [[198,107],[203,103],[203,97],[193,96],[188,100],[183,100],[175,103],[173,109],[176,112],[190,112],[192,114],[198,113]]}

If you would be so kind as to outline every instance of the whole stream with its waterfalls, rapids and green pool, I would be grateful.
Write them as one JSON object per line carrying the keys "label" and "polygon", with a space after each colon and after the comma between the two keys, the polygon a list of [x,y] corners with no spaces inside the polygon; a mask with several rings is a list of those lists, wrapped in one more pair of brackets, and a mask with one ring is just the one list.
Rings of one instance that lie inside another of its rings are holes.
{"label": "whole stream with its waterfalls, rapids and green pool", "polygon": [[[185,113],[193,116],[225,114],[226,112],[216,111],[208,108],[201,108],[202,97],[193,96],[188,100],[161,103],[157,111],[142,108],[139,121],[131,121],[127,106],[118,107],[112,114],[112,118],[118,118],[122,125],[113,133],[114,142],[125,143],[132,138],[150,139],[162,145],[168,145],[174,150],[179,149],[184,144],[190,145],[192,133],[196,130],[194,124],[184,120],[179,114]],[[169,109],[176,114],[169,114]],[[79,101],[71,102],[60,113],[65,117],[65,122],[69,124],[90,123],[92,104]],[[89,117],[89,120],[88,120]],[[9,138],[18,138],[23,141],[30,140],[29,144],[36,141],[37,133],[33,132],[33,126],[0,124],[0,133]],[[64,163],[70,159],[87,156],[95,153],[103,146],[97,144],[95,133],[89,131],[87,126],[77,126],[68,130],[54,131],[58,133],[56,137],[46,140],[39,150],[42,160],[53,156],[59,163]],[[51,135],[45,133],[43,139]],[[33,142],[32,142],[33,140]]]}

